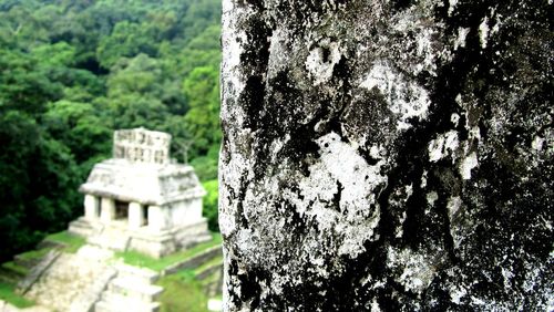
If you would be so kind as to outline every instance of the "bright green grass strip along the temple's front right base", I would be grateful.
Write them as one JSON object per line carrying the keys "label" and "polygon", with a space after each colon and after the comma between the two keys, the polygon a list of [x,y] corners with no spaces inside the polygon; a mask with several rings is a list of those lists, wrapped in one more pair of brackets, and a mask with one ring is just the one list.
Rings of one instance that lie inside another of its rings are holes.
{"label": "bright green grass strip along the temple's front right base", "polygon": [[191,249],[175,252],[161,259],[155,259],[136,251],[116,252],[115,256],[122,258],[123,261],[127,264],[148,268],[154,271],[162,271],[163,269],[167,268],[171,264],[177,263],[178,261],[183,261],[184,259],[196,256],[199,252],[220,243],[222,243],[222,236],[219,233],[212,233],[211,241],[198,243]]}

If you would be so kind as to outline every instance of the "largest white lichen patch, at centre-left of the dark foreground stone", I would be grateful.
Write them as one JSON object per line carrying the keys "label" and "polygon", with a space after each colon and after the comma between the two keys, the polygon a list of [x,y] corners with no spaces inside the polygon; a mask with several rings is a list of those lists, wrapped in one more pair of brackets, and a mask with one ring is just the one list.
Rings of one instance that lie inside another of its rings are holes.
{"label": "largest white lichen patch, at centre-left of the dark foreground stone", "polygon": [[373,239],[379,221],[373,190],[387,183],[387,177],[380,175],[384,160],[369,165],[356,146],[342,142],[334,132],[316,142],[320,160],[299,183],[304,201],[314,204],[307,210],[305,205],[297,206],[298,212],[312,217],[322,231],[335,231],[341,238],[339,254],[355,258],[365,251],[363,242]]}

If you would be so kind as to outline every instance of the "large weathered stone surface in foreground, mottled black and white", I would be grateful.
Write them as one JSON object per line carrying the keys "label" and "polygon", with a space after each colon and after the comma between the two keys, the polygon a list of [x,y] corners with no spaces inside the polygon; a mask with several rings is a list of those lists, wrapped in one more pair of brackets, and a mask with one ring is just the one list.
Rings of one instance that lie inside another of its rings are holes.
{"label": "large weathered stone surface in foreground, mottled black and white", "polygon": [[226,310],[550,310],[551,0],[223,1]]}

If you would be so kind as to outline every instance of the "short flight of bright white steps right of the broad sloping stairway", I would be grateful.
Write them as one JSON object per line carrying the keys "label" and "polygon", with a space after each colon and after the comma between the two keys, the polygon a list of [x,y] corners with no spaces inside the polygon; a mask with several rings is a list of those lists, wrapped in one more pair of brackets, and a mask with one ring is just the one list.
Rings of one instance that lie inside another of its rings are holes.
{"label": "short flight of bright white steps right of the broad sloping stairway", "polygon": [[163,288],[153,283],[158,274],[152,270],[126,264],[116,267],[117,277],[113,279],[94,305],[95,312],[156,312],[160,303],[156,299]]}

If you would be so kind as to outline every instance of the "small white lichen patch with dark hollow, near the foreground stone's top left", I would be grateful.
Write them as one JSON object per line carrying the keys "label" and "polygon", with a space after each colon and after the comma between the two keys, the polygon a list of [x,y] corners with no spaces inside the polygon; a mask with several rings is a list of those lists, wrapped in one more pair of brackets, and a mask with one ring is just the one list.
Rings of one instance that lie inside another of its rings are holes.
{"label": "small white lichen patch with dark hollow, near the foreground stone's top left", "polygon": [[322,42],[309,52],[306,59],[306,69],[311,74],[314,85],[327,82],[332,76],[332,70],[341,58],[340,45],[337,42]]}

